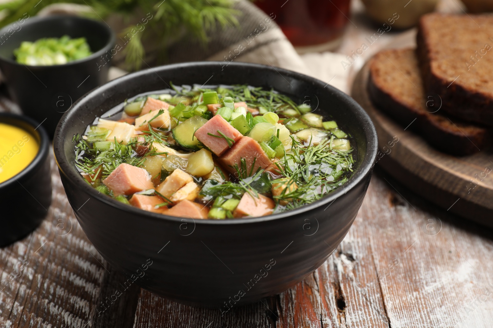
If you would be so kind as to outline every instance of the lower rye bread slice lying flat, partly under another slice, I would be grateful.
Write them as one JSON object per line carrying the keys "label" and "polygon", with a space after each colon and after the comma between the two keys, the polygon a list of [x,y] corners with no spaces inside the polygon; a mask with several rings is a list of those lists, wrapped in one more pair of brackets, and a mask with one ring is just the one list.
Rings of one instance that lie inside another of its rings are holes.
{"label": "lower rye bread slice lying flat, partly under another slice", "polygon": [[[487,128],[451,120],[440,114],[443,105],[438,110],[438,99],[425,98],[414,49],[381,51],[371,59],[369,68],[371,101],[401,125],[409,125],[431,146],[449,154],[466,155],[489,143]],[[426,101],[435,103],[426,106]]]}

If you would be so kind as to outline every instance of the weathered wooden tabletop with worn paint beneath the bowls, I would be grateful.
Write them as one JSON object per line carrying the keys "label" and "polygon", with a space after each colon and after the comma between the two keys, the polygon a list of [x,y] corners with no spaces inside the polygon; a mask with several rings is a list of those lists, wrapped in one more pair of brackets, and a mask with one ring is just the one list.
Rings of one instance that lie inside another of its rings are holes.
{"label": "weathered wooden tabletop with worn paint beneath the bowls", "polygon": [[[348,30],[341,52],[371,30],[358,28]],[[46,219],[0,249],[0,327],[493,325],[493,231],[437,209],[378,165],[347,237],[309,278],[281,295],[221,317],[219,310],[180,305],[133,286],[103,312],[102,301],[124,277],[85,237],[51,158],[54,192]],[[8,209],[1,215],[16,219]]]}

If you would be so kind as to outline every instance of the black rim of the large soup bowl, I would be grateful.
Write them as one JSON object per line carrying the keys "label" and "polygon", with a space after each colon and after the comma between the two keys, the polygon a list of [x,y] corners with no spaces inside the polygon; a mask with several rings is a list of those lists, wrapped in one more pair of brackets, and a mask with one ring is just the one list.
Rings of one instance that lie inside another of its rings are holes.
{"label": "black rim of the large soup bowl", "polygon": [[[84,103],[87,101],[87,99],[99,96],[102,93],[108,91],[108,89],[111,89],[121,83],[129,83],[138,76],[142,76],[142,75],[145,76],[147,74],[151,74],[151,75],[157,74],[158,71],[163,71],[163,70],[166,71],[170,69],[183,69],[183,68],[193,69],[197,66],[204,66],[204,65],[212,66],[212,65],[221,65],[221,64],[223,64],[223,62],[221,61],[193,61],[193,62],[184,62],[184,63],[157,66],[157,67],[150,67],[141,71],[124,75],[112,81],[109,81],[103,86],[100,86],[86,93],[84,96],[79,98],[72,105],[70,111],[66,112],[62,116],[55,130],[55,137],[53,139],[53,149],[55,154],[55,160],[57,162],[60,173],[63,174],[68,180],[70,180],[70,182],[73,183],[77,188],[80,188],[82,191],[86,192],[89,196],[92,196],[97,200],[100,200],[112,207],[116,207],[117,209],[121,209],[138,216],[145,216],[146,218],[153,220],[166,220],[166,221],[181,222],[181,223],[193,221],[194,224],[201,224],[201,225],[202,224],[230,225],[230,224],[258,223],[258,222],[278,220],[290,216],[296,216],[303,212],[307,212],[312,209],[319,208],[323,205],[329,203],[332,204],[332,202],[334,202],[337,198],[346,194],[348,191],[350,191],[352,188],[358,185],[363,179],[365,179],[368,175],[371,174],[378,151],[377,131],[375,129],[375,125],[371,121],[368,114],[352,97],[350,97],[348,94],[344,93],[343,91],[336,89],[330,85],[327,85],[325,82],[322,82],[308,75],[274,67],[272,65],[267,66],[262,64],[245,63],[245,62],[229,62],[229,65],[247,67],[251,69],[264,69],[264,70],[267,69],[275,73],[279,73],[279,74],[282,73],[283,76],[288,76],[296,80],[303,80],[305,82],[309,82],[314,86],[318,85],[322,88],[327,88],[327,92],[335,93],[335,96],[343,98],[343,101],[347,102],[348,105],[350,105],[350,107],[353,108],[351,109],[351,111],[355,112],[357,116],[361,116],[361,120],[368,123],[368,126],[366,127],[361,126],[367,139],[365,156],[362,159],[361,166],[353,172],[351,178],[343,185],[344,187],[341,186],[337,188],[335,191],[333,191],[332,193],[330,193],[329,195],[322,197],[321,199],[313,203],[304,205],[298,209],[292,209],[285,212],[270,214],[260,217],[238,218],[238,219],[230,219],[230,220],[209,220],[209,219],[185,218],[185,217],[169,216],[160,213],[153,213],[126,204],[122,204],[121,202],[118,202],[112,199],[111,197],[107,197],[106,195],[103,197],[97,192],[95,188],[84,182],[84,180],[82,179],[82,177],[80,177],[80,174],[76,172],[74,167],[72,168],[72,165],[70,164],[69,160],[65,157],[65,152],[64,152],[64,142],[67,136],[63,136],[62,134],[65,130],[65,127],[70,124],[70,118],[71,116],[74,115],[73,113],[75,113],[76,111],[84,110]],[[330,206],[330,204],[328,206]]]}

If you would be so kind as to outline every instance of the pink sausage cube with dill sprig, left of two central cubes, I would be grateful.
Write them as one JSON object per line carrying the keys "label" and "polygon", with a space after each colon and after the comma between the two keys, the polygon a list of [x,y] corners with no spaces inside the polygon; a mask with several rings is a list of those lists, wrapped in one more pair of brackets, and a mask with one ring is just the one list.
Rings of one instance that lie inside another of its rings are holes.
{"label": "pink sausage cube with dill sprig, left of two central cubes", "polygon": [[[240,131],[235,129],[220,115],[216,115],[208,120],[195,131],[195,137],[217,156],[222,155],[230,148],[226,139],[218,131],[229,138],[231,144],[233,144],[233,141],[234,143],[238,142],[243,137]],[[209,135],[209,133],[213,134],[213,136]]]}

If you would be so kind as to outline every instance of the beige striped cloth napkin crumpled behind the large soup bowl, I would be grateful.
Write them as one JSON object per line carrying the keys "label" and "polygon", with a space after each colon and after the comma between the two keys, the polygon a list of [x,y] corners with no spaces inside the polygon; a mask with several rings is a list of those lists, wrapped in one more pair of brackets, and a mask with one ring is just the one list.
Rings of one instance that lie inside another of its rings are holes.
{"label": "beige striped cloth napkin crumpled behind the large soup bowl", "polygon": [[[341,60],[344,60],[343,55],[325,52],[300,56],[272,19],[274,15],[271,17],[266,15],[247,0],[238,1],[235,7],[243,12],[243,15],[239,17],[240,28],[229,27],[225,30],[216,30],[210,35],[211,40],[206,48],[202,48],[198,42],[191,40],[171,43],[168,62],[217,60],[223,61],[224,65],[230,61],[260,63],[310,75],[348,92],[349,71],[345,71],[340,65]],[[43,8],[38,15],[75,15],[87,13],[89,10],[91,9],[84,5],[55,3]],[[116,15],[110,15],[105,21],[115,31],[120,31],[131,24],[128,21],[124,22],[122,17]],[[157,54],[152,43],[144,42],[144,47],[146,49],[145,62],[150,66],[157,65]],[[222,50],[216,52],[215,49]],[[114,65],[119,68],[110,69],[108,77],[110,80],[126,73],[124,69],[122,70],[125,68],[124,58],[122,54],[119,55],[113,59]]]}

